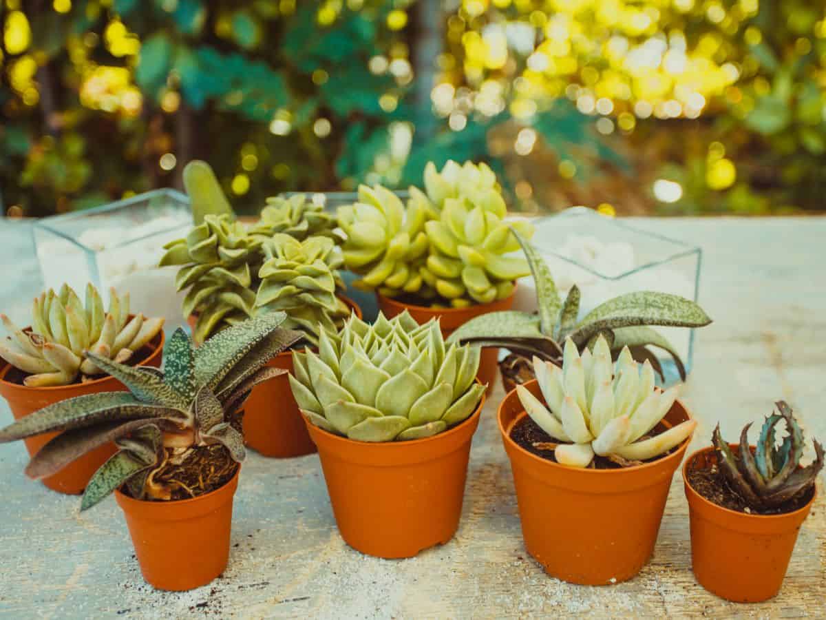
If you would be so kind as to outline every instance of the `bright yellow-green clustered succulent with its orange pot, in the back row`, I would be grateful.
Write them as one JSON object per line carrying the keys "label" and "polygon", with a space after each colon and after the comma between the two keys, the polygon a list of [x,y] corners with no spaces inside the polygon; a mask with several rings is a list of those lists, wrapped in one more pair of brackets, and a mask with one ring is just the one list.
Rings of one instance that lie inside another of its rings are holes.
{"label": "bright yellow-green clustered succulent with its orange pot, in the back row", "polygon": [[[358,188],[358,202],[339,207],[347,236],[344,264],[354,285],[375,290],[387,317],[407,310],[415,321],[439,318],[444,336],[487,312],[507,310],[515,280],[529,274],[510,227],[533,234],[529,222],[504,222],[506,204],[487,165],[448,161],[425,167],[425,192],[401,199],[378,185]],[[498,351],[482,352],[479,379],[493,386]]]}

